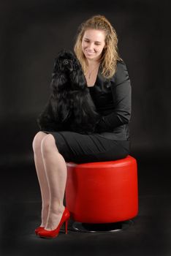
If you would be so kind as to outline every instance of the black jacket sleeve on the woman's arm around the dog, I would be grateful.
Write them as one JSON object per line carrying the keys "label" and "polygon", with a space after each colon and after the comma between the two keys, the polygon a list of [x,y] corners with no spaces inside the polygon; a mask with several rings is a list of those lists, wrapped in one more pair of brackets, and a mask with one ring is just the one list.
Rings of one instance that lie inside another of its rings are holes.
{"label": "black jacket sleeve on the woman's arm around the dog", "polygon": [[122,124],[128,124],[131,117],[131,84],[126,65],[118,62],[114,77],[110,80],[113,95],[113,112],[107,116],[101,116],[96,124],[99,132],[110,132]]}

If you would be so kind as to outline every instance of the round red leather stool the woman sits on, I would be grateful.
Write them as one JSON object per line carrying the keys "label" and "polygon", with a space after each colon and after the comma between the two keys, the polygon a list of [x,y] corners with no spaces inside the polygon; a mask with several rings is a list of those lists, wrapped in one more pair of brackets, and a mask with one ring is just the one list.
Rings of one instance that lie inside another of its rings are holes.
{"label": "round red leather stool the woman sits on", "polygon": [[67,162],[66,207],[75,222],[111,223],[138,211],[137,161]]}

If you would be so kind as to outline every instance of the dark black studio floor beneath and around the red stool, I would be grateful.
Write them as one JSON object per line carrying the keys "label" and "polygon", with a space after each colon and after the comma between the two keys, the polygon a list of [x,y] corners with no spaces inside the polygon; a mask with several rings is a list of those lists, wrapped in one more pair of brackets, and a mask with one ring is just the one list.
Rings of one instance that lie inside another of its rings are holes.
{"label": "dark black studio floor beneath and around the red stool", "polygon": [[139,157],[139,214],[129,228],[115,233],[61,231],[55,239],[34,235],[41,206],[34,163],[1,168],[0,255],[170,256],[168,166],[168,158]]}

